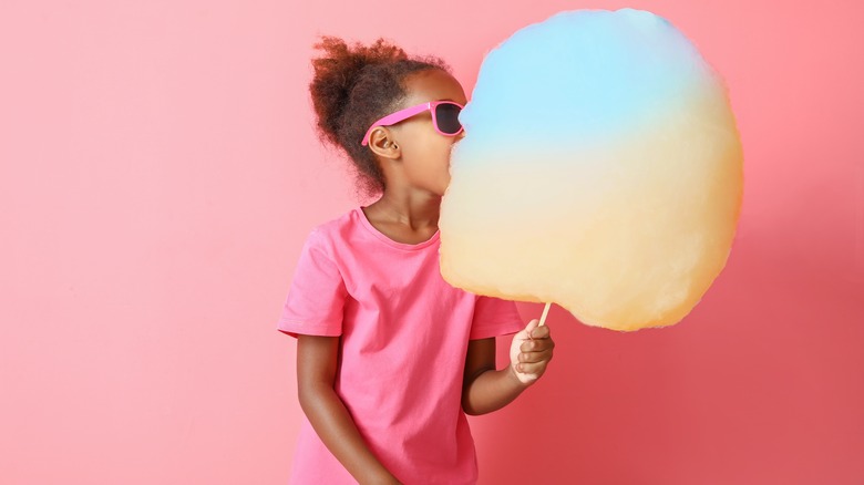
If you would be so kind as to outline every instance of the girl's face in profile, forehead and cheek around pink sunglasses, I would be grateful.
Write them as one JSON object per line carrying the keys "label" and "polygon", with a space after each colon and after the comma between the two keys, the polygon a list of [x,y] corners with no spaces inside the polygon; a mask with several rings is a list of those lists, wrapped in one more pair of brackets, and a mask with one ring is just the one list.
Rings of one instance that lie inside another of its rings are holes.
{"label": "girl's face in profile, forehead and cheek around pink sunglasses", "polygon": [[[432,69],[405,78],[408,97],[402,107],[428,101],[453,101],[465,105],[462,85],[446,72]],[[444,195],[450,184],[450,152],[465,135],[444,136],[435,131],[432,113],[425,111],[392,126],[395,143],[402,152],[404,180],[412,187]]]}

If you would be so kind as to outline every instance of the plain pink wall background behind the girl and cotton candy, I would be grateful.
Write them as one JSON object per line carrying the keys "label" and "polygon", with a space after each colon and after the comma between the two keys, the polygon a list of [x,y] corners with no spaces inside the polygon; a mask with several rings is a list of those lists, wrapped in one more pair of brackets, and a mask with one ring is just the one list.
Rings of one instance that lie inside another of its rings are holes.
{"label": "plain pink wall background behind the girl and cotton candy", "polygon": [[0,6],[0,482],[285,483],[275,322],[306,234],[358,202],[312,131],[316,33],[438,54],[470,93],[516,29],[629,6],[728,80],[737,242],[676,327],[554,310],[547,376],[472,420],[481,483],[864,483],[864,3],[297,3]]}

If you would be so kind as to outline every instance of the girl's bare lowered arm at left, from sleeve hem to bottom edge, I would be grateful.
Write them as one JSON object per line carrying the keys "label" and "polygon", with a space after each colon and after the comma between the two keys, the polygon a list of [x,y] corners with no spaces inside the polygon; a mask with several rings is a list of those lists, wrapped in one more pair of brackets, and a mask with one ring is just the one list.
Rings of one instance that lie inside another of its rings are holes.
{"label": "girl's bare lowered arm at left, from sleeve hem to bottom edge", "polygon": [[367,446],[333,390],[338,337],[298,336],[297,390],[300,406],[330,453],[361,484],[398,484]]}

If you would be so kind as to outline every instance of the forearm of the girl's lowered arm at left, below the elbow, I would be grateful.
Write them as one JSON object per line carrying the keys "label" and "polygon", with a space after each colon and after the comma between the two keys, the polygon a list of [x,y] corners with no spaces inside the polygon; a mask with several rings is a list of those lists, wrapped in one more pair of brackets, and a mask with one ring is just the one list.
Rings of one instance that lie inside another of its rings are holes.
{"label": "forearm of the girl's lowered arm at left, below the elbow", "polygon": [[300,390],[300,406],[318,436],[361,484],[398,484],[363,441],[336,391],[320,384]]}

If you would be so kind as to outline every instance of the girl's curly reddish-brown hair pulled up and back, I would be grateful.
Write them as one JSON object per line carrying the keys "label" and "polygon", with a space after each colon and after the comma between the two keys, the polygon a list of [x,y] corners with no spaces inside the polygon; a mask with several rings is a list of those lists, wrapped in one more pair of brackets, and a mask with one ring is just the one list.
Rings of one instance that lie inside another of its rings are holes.
{"label": "girl's curly reddish-brown hair pulled up and back", "polygon": [[363,135],[404,100],[403,81],[409,74],[429,69],[451,72],[450,66],[434,56],[409,58],[384,39],[348,45],[323,35],[315,48],[323,51],[312,60],[315,78],[309,83],[319,137],[344,149],[368,194],[381,193],[384,176],[372,151],[360,145]]}

